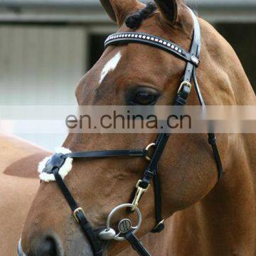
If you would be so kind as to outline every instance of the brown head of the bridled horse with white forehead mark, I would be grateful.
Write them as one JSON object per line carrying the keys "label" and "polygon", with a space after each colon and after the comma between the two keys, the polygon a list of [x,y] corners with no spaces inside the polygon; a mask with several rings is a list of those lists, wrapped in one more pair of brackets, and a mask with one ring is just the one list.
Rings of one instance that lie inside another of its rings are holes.
{"label": "brown head of the bridled horse with white forehead mark", "polygon": [[[194,21],[183,1],[157,0],[155,4],[137,0],[101,0],[107,14],[119,26],[119,33],[137,32],[174,42],[189,52]],[[198,82],[208,104],[218,104],[219,92],[210,95],[213,85],[222,87],[225,73],[216,68],[223,51],[220,38],[206,21],[201,25],[201,63]],[[213,43],[214,41],[214,43]],[[175,55],[141,43],[109,46],[100,60],[80,80],[75,91],[78,105],[172,105],[187,62]],[[204,82],[207,81],[207,84]],[[223,86],[223,90],[230,90]],[[232,95],[232,94],[230,94]],[[198,105],[191,90],[188,105]],[[159,161],[162,218],[192,206],[206,196],[218,181],[218,171],[205,134],[175,134]],[[144,149],[156,140],[156,134],[69,134],[63,147],[70,151]],[[220,151],[225,155],[225,138]],[[93,230],[105,228],[113,208],[131,202],[132,191],[149,162],[143,157],[75,159],[65,184],[82,207]],[[142,237],[154,229],[154,189],[151,186],[139,202],[143,225]],[[134,213],[122,213],[137,221]],[[112,218],[117,226],[121,213]],[[103,242],[107,255],[117,255],[128,244]],[[42,182],[23,228],[21,247],[26,255],[93,255],[63,193],[55,182]]]}

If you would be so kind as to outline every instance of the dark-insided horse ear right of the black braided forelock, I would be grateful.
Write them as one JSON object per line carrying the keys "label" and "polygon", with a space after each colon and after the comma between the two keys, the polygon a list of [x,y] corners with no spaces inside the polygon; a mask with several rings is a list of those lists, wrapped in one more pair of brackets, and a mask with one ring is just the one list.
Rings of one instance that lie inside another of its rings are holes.
{"label": "dark-insided horse ear right of the black braided forelock", "polygon": [[154,2],[167,23],[178,21],[178,11],[183,0],[154,0]]}

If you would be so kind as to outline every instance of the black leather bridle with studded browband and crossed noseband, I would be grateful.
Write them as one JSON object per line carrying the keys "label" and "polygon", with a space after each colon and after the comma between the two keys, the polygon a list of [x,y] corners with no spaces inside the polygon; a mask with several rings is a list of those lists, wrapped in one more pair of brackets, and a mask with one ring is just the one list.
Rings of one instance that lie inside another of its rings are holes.
{"label": "black leather bridle with studded browband and crossed noseband", "polygon": [[[190,10],[191,11],[191,10]],[[193,41],[191,43],[191,50],[187,52],[180,46],[177,46],[171,41],[167,41],[163,38],[157,36],[151,36],[145,33],[133,33],[133,32],[124,32],[124,33],[114,33],[110,35],[105,41],[105,48],[108,46],[116,46],[120,44],[127,43],[143,43],[149,46],[157,47],[162,50],[166,50],[173,55],[176,55],[178,58],[186,61],[186,70],[183,75],[181,85],[178,87],[178,92],[176,94],[174,105],[186,105],[188,95],[191,92],[191,81],[193,80],[196,93],[198,95],[198,100],[200,104],[205,105],[203,97],[201,95],[200,89],[198,87],[198,82],[196,79],[196,68],[199,65],[199,56],[201,52],[201,31],[198,23],[198,19],[193,11],[191,11],[194,21],[194,30],[193,30]],[[154,182],[154,201],[155,201],[155,215],[156,215],[156,226],[152,230],[153,233],[159,233],[164,229],[164,220],[161,217],[161,183],[159,178],[159,168],[158,163],[161,158],[161,155],[164,151],[166,143],[171,134],[163,133],[158,134],[156,142],[149,144],[146,149],[135,149],[135,150],[110,150],[110,151],[81,151],[81,152],[72,152],[70,154],[55,154],[53,155],[44,171],[48,174],[54,174],[55,180],[58,183],[60,191],[62,191],[63,196],[65,196],[66,201],[68,202],[75,220],[78,222],[82,228],[83,233],[85,233],[87,239],[90,241],[94,255],[100,256],[103,255],[102,247],[100,245],[100,240],[128,240],[134,250],[138,252],[139,255],[149,256],[149,252],[146,250],[142,242],[140,242],[135,233],[139,229],[139,226],[142,223],[142,214],[138,208],[139,201],[142,198],[142,195],[147,191],[151,184],[151,180]],[[208,142],[212,146],[213,156],[218,169],[218,179],[221,178],[223,174],[223,167],[221,164],[220,156],[218,153],[218,148],[216,145],[215,134],[208,134]],[[154,148],[153,154],[149,156],[149,149]],[[61,166],[65,163],[65,159],[68,157],[72,159],[98,159],[98,158],[107,158],[107,157],[145,157],[149,160],[149,165],[142,178],[136,184],[136,193],[132,203],[124,203],[123,205],[117,206],[114,208],[110,215],[107,218],[107,228],[102,230],[99,234],[96,235],[95,231],[92,230],[92,226],[87,221],[85,217],[85,212],[78,206],[75,199],[71,195],[68,187],[65,185],[63,178],[59,174]],[[132,222],[129,219],[123,219],[119,222],[118,230],[119,233],[116,233],[114,229],[110,227],[111,218],[117,210],[122,208],[131,208],[130,210],[135,211],[138,215],[138,224],[132,226]]]}

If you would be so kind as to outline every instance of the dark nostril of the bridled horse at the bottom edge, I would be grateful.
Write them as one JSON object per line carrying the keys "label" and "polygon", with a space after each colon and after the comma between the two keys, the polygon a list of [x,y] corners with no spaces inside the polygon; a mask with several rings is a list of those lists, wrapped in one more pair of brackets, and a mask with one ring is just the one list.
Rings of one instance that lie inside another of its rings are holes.
{"label": "dark nostril of the bridled horse at the bottom edge", "polygon": [[54,238],[47,236],[38,242],[38,247],[36,248],[36,255],[38,256],[57,256],[58,245]]}

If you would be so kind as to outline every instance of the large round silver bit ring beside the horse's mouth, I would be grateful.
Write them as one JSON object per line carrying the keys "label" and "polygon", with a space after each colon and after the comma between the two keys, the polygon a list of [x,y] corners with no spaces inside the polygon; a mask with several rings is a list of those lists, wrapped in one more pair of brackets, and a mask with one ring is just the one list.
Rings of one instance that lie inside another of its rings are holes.
{"label": "large round silver bit ring beside the horse's mouth", "polygon": [[[111,221],[115,212],[117,212],[118,210],[120,210],[122,208],[133,208],[133,207],[134,207],[134,205],[132,205],[132,203],[124,203],[122,205],[119,205],[119,206],[115,207],[107,217],[107,230],[110,230],[110,221]],[[132,229],[133,229],[132,233],[133,234],[137,233],[137,231],[139,230],[139,227],[142,224],[142,213],[141,213],[141,211],[137,207],[134,210],[136,211],[136,213],[138,215],[138,224],[136,226],[132,226]],[[121,235],[120,232],[117,233],[117,235],[114,236],[114,240],[117,240],[117,241],[126,240],[125,238],[120,237],[119,235]]]}

